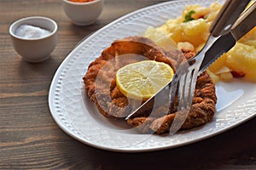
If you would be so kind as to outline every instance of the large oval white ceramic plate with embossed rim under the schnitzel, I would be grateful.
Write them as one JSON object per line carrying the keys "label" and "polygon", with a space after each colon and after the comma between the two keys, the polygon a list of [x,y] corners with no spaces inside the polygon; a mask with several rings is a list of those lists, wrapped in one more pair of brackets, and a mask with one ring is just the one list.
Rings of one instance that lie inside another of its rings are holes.
{"label": "large oval white ceramic plate with embossed rim under the schnitzel", "polygon": [[102,116],[84,92],[82,77],[88,65],[113,40],[142,35],[148,26],[160,26],[168,19],[175,19],[186,4],[208,6],[213,2],[172,1],[143,8],[115,20],[81,42],[56,71],[49,89],[49,109],[55,122],[84,144],[103,150],[139,152],[164,150],[207,139],[253,118],[256,115],[256,86],[248,82],[218,83],[218,111],[213,120],[172,136],[126,130],[122,123],[111,122]]}

